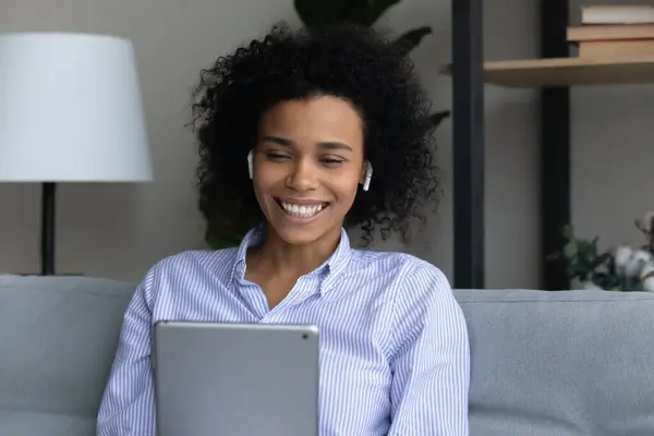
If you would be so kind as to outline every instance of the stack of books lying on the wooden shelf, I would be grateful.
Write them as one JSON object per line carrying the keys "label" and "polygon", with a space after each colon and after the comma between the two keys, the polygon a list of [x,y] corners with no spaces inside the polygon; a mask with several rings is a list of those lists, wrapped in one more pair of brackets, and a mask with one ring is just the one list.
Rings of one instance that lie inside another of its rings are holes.
{"label": "stack of books lying on the wooden shelf", "polygon": [[588,59],[654,57],[654,7],[585,5],[581,25],[568,27],[568,41]]}

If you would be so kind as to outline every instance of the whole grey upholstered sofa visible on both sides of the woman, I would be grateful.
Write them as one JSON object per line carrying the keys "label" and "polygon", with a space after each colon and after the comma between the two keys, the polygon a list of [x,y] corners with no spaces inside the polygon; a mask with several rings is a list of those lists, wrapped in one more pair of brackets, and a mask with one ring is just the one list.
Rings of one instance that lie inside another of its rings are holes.
{"label": "whole grey upholstered sofa visible on both sides of the woman", "polygon": [[[132,283],[0,276],[0,436],[92,436]],[[473,436],[654,435],[654,294],[457,290]]]}

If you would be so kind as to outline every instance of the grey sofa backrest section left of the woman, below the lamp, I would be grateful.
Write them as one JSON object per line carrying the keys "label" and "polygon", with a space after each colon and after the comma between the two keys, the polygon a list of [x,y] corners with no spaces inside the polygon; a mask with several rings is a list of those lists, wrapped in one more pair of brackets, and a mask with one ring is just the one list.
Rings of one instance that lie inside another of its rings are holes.
{"label": "grey sofa backrest section left of the woman, below the lamp", "polygon": [[95,416],[134,289],[0,276],[0,410]]}

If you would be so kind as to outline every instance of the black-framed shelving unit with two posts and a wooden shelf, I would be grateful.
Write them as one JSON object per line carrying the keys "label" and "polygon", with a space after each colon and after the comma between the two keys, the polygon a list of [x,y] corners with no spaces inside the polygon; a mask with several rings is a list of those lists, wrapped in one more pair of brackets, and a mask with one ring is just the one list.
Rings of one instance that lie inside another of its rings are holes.
{"label": "black-framed shelving unit with two posts and a wooden shelf", "polygon": [[541,288],[554,290],[569,284],[565,265],[546,262],[562,247],[561,229],[570,221],[569,86],[654,77],[654,60],[591,65],[567,59],[568,0],[541,0],[540,8],[542,60],[484,62],[483,0],[452,0],[447,72],[452,75],[456,288],[485,288],[484,84],[541,88]]}

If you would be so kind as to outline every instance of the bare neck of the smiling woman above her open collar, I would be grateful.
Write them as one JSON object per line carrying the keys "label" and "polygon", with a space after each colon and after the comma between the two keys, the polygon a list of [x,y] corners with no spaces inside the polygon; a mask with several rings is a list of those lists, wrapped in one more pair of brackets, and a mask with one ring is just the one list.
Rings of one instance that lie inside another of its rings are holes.
{"label": "bare neck of the smiling woman above her open collar", "polygon": [[247,267],[259,274],[299,278],[316,269],[334,254],[340,234],[340,228],[337,228],[310,244],[295,245],[287,243],[275,230],[267,228],[265,242],[256,254],[249,256],[252,265]]}

